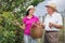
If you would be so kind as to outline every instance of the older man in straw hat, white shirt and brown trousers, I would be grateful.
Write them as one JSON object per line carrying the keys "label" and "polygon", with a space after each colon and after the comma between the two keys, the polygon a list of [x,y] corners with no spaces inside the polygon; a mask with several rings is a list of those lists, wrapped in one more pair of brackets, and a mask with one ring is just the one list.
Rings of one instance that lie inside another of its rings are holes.
{"label": "older man in straw hat, white shirt and brown trousers", "polygon": [[46,5],[47,16],[44,18],[44,43],[58,43],[58,31],[63,26],[62,16],[56,12],[55,3],[49,3]]}

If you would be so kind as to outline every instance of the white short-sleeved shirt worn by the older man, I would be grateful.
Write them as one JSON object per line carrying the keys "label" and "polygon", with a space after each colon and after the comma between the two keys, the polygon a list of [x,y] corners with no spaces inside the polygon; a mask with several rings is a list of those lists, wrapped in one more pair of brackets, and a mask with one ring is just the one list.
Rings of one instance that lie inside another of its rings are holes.
{"label": "white short-sleeved shirt worn by the older man", "polygon": [[49,23],[57,24],[57,25],[63,25],[62,22],[62,16],[60,13],[54,12],[51,16],[48,14],[44,18],[44,25],[46,25],[46,30],[47,31],[60,31],[60,29],[55,27],[49,27]]}

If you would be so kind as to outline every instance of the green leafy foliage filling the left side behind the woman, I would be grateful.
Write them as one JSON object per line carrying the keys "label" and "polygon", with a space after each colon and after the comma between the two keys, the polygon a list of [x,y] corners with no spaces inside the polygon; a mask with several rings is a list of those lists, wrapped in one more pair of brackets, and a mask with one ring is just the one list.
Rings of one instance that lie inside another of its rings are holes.
{"label": "green leafy foliage filling the left side behind the woman", "polygon": [[23,43],[23,30],[13,25],[22,24],[28,5],[37,5],[43,0],[0,0],[0,43]]}

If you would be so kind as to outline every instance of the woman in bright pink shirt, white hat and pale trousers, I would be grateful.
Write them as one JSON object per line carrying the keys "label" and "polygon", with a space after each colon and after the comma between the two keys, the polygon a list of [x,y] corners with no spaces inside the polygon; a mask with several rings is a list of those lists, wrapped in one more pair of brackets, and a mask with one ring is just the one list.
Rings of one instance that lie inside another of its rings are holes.
{"label": "woman in bright pink shirt, white hat and pale trousers", "polygon": [[39,18],[34,15],[34,12],[35,8],[32,5],[28,6],[26,16],[23,18],[23,26],[20,25],[24,29],[24,43],[37,43],[36,39],[30,37],[31,25],[39,22]]}

